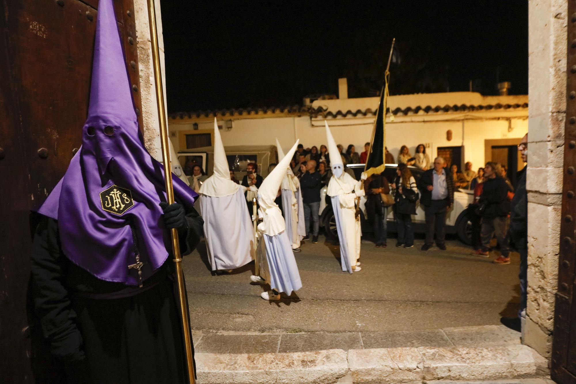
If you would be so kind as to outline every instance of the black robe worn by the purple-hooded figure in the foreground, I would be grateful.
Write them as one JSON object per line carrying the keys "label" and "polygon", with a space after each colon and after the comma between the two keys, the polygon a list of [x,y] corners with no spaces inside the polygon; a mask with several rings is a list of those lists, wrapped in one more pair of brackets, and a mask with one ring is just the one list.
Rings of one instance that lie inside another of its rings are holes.
{"label": "black robe worn by the purple-hooded figure in the foreground", "polygon": [[[203,225],[194,209],[187,220],[183,255],[194,250]],[[142,288],[100,280],[66,258],[58,222],[42,216],[31,293],[41,333],[65,367],[56,374],[60,383],[187,382],[173,270],[170,255]]]}

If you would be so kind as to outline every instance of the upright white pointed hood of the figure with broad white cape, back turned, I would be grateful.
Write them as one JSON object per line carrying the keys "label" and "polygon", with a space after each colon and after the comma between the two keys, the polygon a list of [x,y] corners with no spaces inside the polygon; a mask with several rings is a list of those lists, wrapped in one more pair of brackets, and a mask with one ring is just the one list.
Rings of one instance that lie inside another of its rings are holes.
{"label": "upright white pointed hood of the figure with broad white cape, back turned", "polygon": [[230,170],[228,168],[228,160],[226,160],[226,152],[224,152],[224,145],[218,130],[216,118],[214,118],[214,168],[213,174],[200,186],[199,193],[212,197],[228,196],[236,193],[240,188],[239,185],[230,180]]}

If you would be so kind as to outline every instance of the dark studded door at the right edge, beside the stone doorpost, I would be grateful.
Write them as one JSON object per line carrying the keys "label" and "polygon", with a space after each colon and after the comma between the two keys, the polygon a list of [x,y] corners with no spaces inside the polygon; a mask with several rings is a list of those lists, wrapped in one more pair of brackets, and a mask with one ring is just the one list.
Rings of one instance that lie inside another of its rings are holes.
{"label": "dark studded door at the right edge, beside the stone doorpost", "polygon": [[[576,13],[576,2],[568,2],[568,14]],[[576,19],[568,21],[568,42],[576,39]],[[569,44],[567,67],[576,67],[576,46]],[[551,377],[560,384],[576,383],[576,92],[575,71],[566,76],[566,126],[564,127],[564,167],[562,224],[558,288],[554,308]]]}

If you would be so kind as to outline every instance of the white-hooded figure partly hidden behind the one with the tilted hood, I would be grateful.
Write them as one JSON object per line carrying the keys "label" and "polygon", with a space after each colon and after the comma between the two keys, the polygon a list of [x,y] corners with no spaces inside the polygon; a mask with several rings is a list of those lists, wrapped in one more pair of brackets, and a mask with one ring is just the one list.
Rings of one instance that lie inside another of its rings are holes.
{"label": "white-hooded figure partly hidden behind the one with the tilted hood", "polygon": [[[278,158],[283,159],[284,151],[278,138],[276,138],[276,148],[278,149]],[[304,204],[300,191],[300,180],[294,176],[294,172],[292,172],[290,167],[286,170],[280,188],[282,190],[282,212],[286,221],[286,234],[292,242],[292,249],[300,251],[300,242],[306,236]]]}

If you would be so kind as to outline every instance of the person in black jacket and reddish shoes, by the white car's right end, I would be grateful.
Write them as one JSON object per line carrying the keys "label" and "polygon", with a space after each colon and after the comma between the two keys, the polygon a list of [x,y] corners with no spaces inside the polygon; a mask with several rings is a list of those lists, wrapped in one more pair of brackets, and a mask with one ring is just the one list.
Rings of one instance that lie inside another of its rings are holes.
{"label": "person in black jacket and reddish shoes, by the white car's right end", "polygon": [[494,262],[498,264],[510,263],[510,249],[508,247],[506,232],[508,230],[508,214],[510,213],[510,200],[508,192],[510,191],[506,180],[500,176],[500,164],[488,161],[484,167],[484,187],[478,201],[482,211],[482,231],[480,239],[482,240],[482,249],[473,252],[473,255],[489,257],[490,241],[496,234],[501,257]]}

